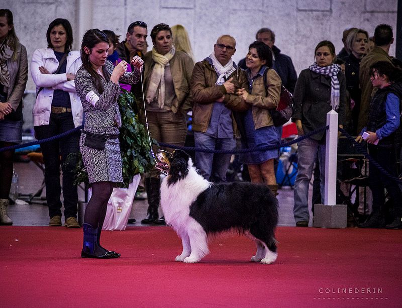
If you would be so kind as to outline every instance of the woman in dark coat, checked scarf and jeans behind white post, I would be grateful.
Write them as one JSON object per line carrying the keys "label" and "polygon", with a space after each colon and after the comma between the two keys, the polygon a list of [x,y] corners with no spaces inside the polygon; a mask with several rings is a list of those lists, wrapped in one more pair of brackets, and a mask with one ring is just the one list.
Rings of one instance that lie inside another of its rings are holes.
{"label": "woman in dark coat, checked scarf and jeans behind white post", "polygon": [[[296,123],[301,137],[326,125],[327,113],[339,113],[339,127],[343,128],[346,106],[346,80],[338,64],[330,41],[320,42],[315,49],[315,62],[300,72],[294,89]],[[321,131],[298,143],[297,176],[294,182],[293,215],[298,227],[308,227],[309,184],[317,153],[321,171],[321,195],[325,187],[325,131]],[[313,205],[314,207],[314,205]]]}

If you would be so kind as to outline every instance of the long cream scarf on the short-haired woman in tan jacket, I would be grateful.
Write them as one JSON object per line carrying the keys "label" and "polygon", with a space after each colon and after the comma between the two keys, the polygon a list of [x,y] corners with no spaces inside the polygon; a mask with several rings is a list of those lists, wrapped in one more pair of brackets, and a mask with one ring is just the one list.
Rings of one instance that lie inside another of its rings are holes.
{"label": "long cream scarf on the short-haired woman in tan jacket", "polygon": [[172,49],[165,55],[159,54],[155,47],[152,48],[152,60],[155,61],[155,65],[149,77],[146,99],[150,104],[155,99],[156,91],[159,89],[158,107],[161,109],[165,105],[165,66],[169,65],[169,61],[173,58],[175,52],[176,49],[173,45]]}

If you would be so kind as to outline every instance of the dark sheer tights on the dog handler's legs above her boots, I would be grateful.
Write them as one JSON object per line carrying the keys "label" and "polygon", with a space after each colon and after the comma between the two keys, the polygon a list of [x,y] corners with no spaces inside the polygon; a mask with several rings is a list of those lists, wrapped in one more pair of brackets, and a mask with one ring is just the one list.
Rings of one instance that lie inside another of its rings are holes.
{"label": "dark sheer tights on the dog handler's legs above her boots", "polygon": [[103,226],[108,201],[112,195],[114,182],[94,182],[92,183],[92,195],[86,204],[84,223],[97,229]]}

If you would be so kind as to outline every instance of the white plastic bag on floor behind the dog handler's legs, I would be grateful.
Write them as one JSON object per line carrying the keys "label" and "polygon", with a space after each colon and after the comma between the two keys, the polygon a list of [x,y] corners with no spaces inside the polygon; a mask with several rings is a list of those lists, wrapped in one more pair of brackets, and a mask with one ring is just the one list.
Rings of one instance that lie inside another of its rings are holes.
{"label": "white plastic bag on floor behind the dog handler's legs", "polygon": [[133,182],[129,185],[129,188],[113,189],[102,230],[126,229],[140,179],[141,175],[137,174],[133,177]]}

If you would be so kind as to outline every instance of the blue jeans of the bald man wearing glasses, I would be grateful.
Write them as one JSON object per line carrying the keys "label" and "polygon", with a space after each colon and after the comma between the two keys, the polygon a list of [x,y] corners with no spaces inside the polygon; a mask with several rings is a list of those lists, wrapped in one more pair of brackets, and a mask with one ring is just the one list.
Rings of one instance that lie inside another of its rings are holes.
{"label": "blue jeans of the bald man wearing glasses", "polygon": [[[211,150],[233,151],[236,148],[234,138],[216,138],[204,133],[194,132],[195,147]],[[214,154],[195,152],[195,164],[199,173],[213,182],[226,182],[232,154]]]}

